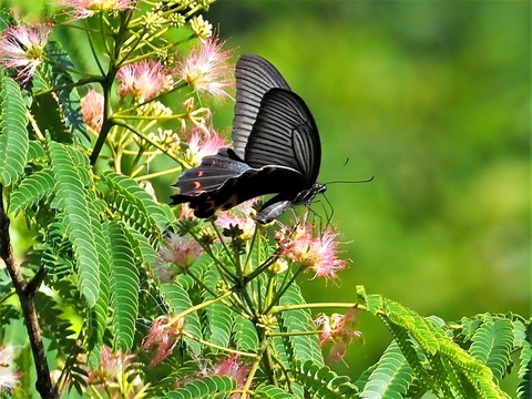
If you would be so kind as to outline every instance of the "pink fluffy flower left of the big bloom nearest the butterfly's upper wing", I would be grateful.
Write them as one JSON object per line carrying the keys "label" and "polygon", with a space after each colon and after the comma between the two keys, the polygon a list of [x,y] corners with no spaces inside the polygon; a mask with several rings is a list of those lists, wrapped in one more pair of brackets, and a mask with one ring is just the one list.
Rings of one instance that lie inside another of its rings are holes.
{"label": "pink fluffy flower left of the big bloom nearest the butterfly's upper wing", "polygon": [[131,94],[141,103],[172,88],[172,76],[167,69],[154,60],[124,65],[116,73],[116,79],[120,82],[119,94]]}

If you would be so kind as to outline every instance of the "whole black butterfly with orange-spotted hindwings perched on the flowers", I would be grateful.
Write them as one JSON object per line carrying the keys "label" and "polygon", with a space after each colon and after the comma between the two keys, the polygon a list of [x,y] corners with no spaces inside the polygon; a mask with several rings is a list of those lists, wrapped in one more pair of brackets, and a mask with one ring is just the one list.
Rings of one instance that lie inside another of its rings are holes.
{"label": "whole black butterfly with orange-spotted hindwings perched on the flowers", "polygon": [[174,186],[172,205],[190,203],[197,217],[212,216],[264,195],[277,194],[257,214],[265,224],[295,204],[308,205],[325,185],[316,183],[321,161],[318,129],[279,71],[255,54],[236,63],[233,149],[203,157]]}

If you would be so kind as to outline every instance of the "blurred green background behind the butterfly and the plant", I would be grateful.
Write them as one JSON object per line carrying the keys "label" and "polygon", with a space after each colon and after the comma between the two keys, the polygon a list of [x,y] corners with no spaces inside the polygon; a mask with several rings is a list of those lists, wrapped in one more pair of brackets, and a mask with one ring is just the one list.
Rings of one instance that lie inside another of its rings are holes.
{"label": "blurred green background behind the butterfly and the plant", "polygon": [[[531,11],[529,1],[211,7],[235,61],[264,55],[313,111],[319,181],[375,176],[328,187],[351,263],[337,282],[307,276],[308,301],[352,301],[362,284],[447,320],[531,316]],[[232,112],[216,104],[219,130]],[[378,320],[361,315],[359,328],[364,344],[336,366],[351,377],[389,344]]]}

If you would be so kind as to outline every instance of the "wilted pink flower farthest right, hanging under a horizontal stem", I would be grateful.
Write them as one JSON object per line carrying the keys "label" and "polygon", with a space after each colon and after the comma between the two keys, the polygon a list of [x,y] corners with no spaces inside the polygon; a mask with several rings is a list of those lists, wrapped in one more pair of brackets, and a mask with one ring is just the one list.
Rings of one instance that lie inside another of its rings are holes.
{"label": "wilted pink flower farthest right, hanging under a horizontal stem", "polygon": [[327,341],[332,342],[328,359],[329,361],[340,360],[347,352],[347,347],[352,342],[354,338],[360,338],[362,334],[355,329],[357,321],[357,309],[351,308],[345,315],[332,314],[330,317],[320,314],[314,323],[317,326],[324,326],[319,346],[324,346]]}

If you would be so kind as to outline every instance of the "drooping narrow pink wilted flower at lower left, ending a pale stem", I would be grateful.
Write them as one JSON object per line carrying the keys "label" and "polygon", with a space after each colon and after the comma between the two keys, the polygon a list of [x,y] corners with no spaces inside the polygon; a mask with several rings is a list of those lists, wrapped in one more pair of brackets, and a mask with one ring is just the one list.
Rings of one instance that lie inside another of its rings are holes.
{"label": "drooping narrow pink wilted flower at lower left, ending a pale stem", "polygon": [[170,316],[158,316],[153,320],[147,336],[142,344],[143,349],[156,347],[155,356],[151,366],[155,366],[166,359],[183,334],[186,321],[184,318],[171,318]]}

